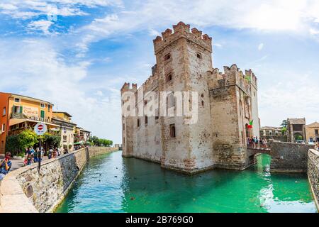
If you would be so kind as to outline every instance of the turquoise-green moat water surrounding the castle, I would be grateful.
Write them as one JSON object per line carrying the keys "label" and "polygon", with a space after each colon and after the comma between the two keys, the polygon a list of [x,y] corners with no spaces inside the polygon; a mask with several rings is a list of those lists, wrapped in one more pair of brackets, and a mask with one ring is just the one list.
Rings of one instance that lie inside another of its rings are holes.
{"label": "turquoise-green moat water surrounding the castle", "polygon": [[187,176],[158,164],[91,158],[57,212],[315,212],[306,175],[270,174],[270,157],[245,171]]}

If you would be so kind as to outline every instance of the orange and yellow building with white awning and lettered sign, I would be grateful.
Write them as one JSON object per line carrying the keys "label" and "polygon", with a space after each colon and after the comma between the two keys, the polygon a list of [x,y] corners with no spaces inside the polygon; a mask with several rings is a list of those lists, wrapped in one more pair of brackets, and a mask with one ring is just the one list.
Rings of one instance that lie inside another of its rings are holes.
{"label": "orange and yellow building with white awning and lettered sign", "polygon": [[51,122],[52,107],[49,101],[0,92],[0,153],[5,151],[8,135],[17,135],[26,129],[33,130],[38,122],[44,122],[48,131],[54,133],[58,125]]}

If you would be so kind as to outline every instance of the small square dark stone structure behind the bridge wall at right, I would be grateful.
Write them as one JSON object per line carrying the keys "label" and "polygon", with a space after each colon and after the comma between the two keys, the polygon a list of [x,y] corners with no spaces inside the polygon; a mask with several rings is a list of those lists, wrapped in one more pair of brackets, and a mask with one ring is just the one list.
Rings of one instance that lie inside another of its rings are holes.
{"label": "small square dark stone structure behind the bridge wall at right", "polygon": [[287,135],[288,142],[296,142],[296,140],[305,139],[306,118],[288,118],[287,119]]}

